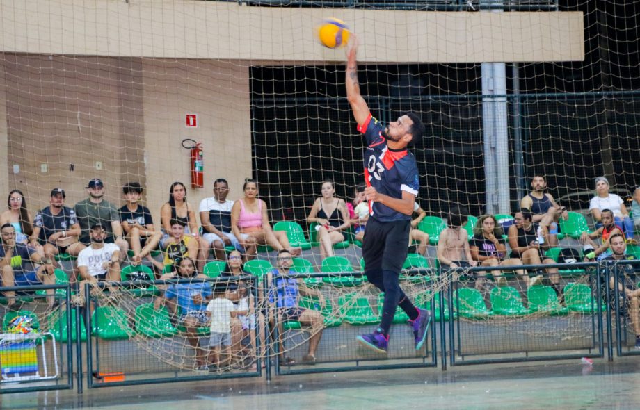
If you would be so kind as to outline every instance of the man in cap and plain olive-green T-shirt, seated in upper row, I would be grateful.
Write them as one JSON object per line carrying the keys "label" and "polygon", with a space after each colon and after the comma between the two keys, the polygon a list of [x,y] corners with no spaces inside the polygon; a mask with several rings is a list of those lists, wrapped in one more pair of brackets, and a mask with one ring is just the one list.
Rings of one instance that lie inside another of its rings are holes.
{"label": "man in cap and plain olive-green T-shirt, seated in upper row", "polygon": [[127,255],[129,244],[122,238],[122,225],[120,213],[110,202],[103,198],[104,183],[94,178],[87,185],[89,197],[78,202],[74,206],[76,216],[81,228],[80,242],[89,245],[91,242],[89,228],[95,224],[102,225],[106,238],[105,243],[115,243],[120,248],[120,260]]}

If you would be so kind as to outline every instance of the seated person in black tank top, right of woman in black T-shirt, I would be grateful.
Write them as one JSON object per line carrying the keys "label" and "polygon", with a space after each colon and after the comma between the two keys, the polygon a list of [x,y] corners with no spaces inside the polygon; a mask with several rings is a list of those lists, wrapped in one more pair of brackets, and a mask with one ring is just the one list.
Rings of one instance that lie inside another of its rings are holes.
{"label": "seated person in black tank top, right of woman in black T-shirt", "polygon": [[[549,245],[538,242],[538,227],[533,222],[533,215],[529,209],[522,209],[513,215],[513,225],[509,227],[509,247],[511,247],[511,258],[520,258],[525,265],[542,265],[555,263],[552,258],[545,256],[543,249],[548,249]],[[558,295],[560,292],[560,275],[558,268],[548,268],[546,272],[554,285]],[[540,284],[542,276],[537,275],[529,280],[528,276],[523,278],[527,287]]]}

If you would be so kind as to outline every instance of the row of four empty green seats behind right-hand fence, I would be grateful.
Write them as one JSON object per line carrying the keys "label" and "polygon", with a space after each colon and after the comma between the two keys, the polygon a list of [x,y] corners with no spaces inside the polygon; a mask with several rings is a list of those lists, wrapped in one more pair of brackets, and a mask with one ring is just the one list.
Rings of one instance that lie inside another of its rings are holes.
{"label": "row of four empty green seats behind right-hand fence", "polygon": [[[563,315],[569,312],[595,313],[597,304],[591,288],[586,284],[568,284],[564,288],[565,306],[558,300],[550,286],[531,286],[527,290],[529,307],[522,304],[517,289],[511,286],[493,288],[490,293],[492,310],[484,303],[482,294],[474,288],[462,288],[454,292],[454,309],[458,315],[468,319],[483,319],[493,315],[521,316],[531,313]],[[457,301],[457,304],[456,302]],[[605,309],[602,303],[602,309]]]}

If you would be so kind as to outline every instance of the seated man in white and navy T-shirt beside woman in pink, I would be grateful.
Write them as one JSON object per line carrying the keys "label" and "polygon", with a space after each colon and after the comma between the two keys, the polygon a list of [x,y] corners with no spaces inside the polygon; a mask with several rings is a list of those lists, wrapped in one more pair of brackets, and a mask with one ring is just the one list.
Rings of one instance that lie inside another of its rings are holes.
{"label": "seated man in white and navy T-shirt beside woman in pink", "polygon": [[242,249],[231,231],[233,201],[227,199],[228,194],[229,183],[226,179],[218,178],[214,182],[214,196],[202,199],[199,208],[202,238],[214,250],[218,261],[225,260],[225,246],[233,245],[238,250]]}

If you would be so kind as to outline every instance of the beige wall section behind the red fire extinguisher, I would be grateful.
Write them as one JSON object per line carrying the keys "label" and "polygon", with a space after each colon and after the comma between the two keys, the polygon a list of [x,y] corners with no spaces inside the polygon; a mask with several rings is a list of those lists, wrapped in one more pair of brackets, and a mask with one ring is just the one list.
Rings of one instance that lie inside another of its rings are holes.
{"label": "beige wall section behind the red fire extinguisher", "polygon": [[[251,177],[249,74],[246,65],[211,60],[143,60],[143,104],[147,201],[159,223],[161,205],[171,183],[187,187],[197,211],[213,196],[213,181],[229,181],[229,199],[237,199],[245,177]],[[187,128],[185,115],[197,114],[198,127]],[[191,188],[191,138],[204,147],[205,188]]]}

